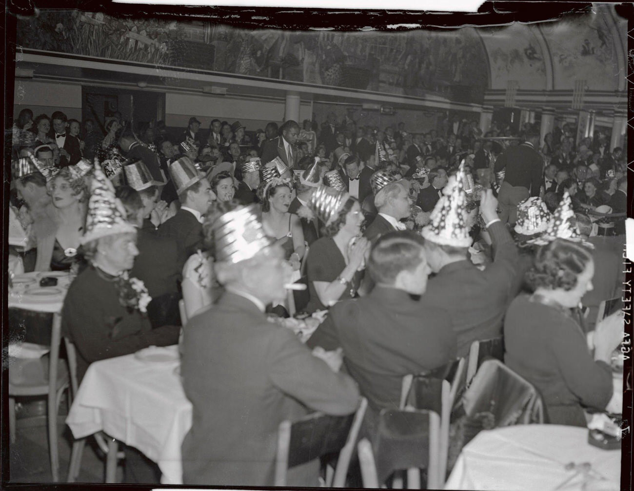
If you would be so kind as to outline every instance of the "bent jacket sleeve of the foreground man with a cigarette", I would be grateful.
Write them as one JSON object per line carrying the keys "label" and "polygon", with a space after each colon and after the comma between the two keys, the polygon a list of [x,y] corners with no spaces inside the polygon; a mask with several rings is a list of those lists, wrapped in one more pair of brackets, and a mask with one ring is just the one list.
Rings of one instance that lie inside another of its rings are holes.
{"label": "bent jacket sleeve of the foreground man with a cigarette", "polygon": [[359,389],[352,378],[334,373],[290,331],[272,336],[269,345],[269,378],[282,392],[311,409],[334,416],[354,412]]}

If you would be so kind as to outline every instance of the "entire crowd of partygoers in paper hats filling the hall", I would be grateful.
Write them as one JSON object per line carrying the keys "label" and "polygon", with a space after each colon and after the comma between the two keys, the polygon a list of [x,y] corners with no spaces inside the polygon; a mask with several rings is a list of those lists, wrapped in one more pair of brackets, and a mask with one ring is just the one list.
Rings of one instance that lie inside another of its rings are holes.
{"label": "entire crowd of partygoers in paper hats filling the hall", "polygon": [[[27,245],[11,255],[77,274],[62,326],[80,379],[182,333],[184,484],[272,485],[284,419],[351,414],[362,396],[371,433],[403,376],[500,336],[547,422],[585,426],[611,400],[622,336],[618,314],[594,325],[579,305],[596,316],[620,295],[623,151],[603,133],[575,148],[569,125],[540,148],[531,125],[507,146],[508,129],[456,123],[191,117],[172,138],[23,110],[11,207]],[[323,311],[305,343],[280,320]],[[317,484],[315,466],[293,470],[289,485]]]}

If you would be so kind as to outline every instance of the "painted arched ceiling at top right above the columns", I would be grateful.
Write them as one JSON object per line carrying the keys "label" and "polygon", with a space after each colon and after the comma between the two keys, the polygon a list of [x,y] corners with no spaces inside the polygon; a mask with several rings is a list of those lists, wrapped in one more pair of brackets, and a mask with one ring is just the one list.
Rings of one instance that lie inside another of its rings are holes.
{"label": "painted arched ceiling at top right above the columns", "polygon": [[540,24],[474,29],[489,61],[489,89],[624,91],[627,21],[611,4]]}

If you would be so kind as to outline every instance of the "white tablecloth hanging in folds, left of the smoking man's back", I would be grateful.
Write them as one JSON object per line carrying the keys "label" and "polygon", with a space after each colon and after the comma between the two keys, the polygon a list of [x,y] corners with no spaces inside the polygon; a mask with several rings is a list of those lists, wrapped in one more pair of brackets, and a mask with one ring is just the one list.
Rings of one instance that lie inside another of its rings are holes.
{"label": "white tablecloth hanging in folds, left of the smoking man's back", "polygon": [[[160,349],[178,355],[176,346]],[[74,437],[105,431],[156,462],[163,484],[181,484],[181,443],[191,427],[191,403],[177,367],[178,362],[134,355],[91,364],[66,419]]]}

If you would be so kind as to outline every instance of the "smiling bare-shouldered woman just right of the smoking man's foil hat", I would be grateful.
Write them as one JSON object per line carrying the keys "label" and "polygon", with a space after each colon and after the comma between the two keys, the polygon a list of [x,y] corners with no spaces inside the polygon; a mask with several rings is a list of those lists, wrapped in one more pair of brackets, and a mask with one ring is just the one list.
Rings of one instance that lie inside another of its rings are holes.
{"label": "smiling bare-shouldered woman just right of the smoking man's foil hat", "polygon": [[305,249],[304,231],[299,217],[288,213],[293,199],[292,184],[287,179],[274,177],[260,184],[257,196],[262,201],[264,231],[281,245],[284,258],[290,261],[293,271],[299,271]]}

